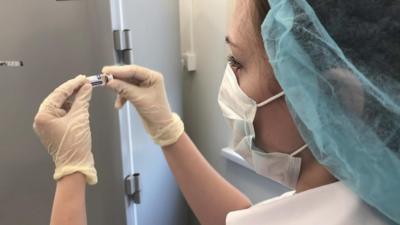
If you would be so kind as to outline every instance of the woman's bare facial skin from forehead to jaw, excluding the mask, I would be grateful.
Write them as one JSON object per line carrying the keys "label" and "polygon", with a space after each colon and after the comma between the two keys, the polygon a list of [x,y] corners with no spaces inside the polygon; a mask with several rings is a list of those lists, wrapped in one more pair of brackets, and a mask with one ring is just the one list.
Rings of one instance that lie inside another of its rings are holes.
{"label": "woman's bare facial skin from forehead to jaw, excluding the mask", "polygon": [[[240,88],[257,103],[282,91],[264,49],[252,16],[254,0],[236,1],[227,36],[229,58]],[[254,120],[256,145],[269,152],[292,153],[304,144],[289,114],[284,98],[258,108]]]}

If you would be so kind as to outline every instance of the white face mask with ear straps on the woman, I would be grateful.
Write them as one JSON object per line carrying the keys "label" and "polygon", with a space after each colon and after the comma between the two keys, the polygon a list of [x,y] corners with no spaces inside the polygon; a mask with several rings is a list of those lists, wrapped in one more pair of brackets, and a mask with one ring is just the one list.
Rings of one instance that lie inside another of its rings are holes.
{"label": "white face mask with ear straps on the woman", "polygon": [[268,153],[254,145],[253,121],[257,108],[264,107],[283,96],[282,92],[257,104],[239,87],[236,76],[228,65],[221,83],[218,103],[233,129],[232,148],[234,151],[242,156],[258,174],[295,189],[300,173],[301,158],[294,156],[306,149],[307,145],[292,154]]}

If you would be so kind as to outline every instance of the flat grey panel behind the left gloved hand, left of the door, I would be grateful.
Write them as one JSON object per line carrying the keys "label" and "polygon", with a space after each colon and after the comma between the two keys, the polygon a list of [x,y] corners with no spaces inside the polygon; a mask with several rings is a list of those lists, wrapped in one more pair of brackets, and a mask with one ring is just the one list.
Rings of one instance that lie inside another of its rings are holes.
{"label": "flat grey panel behind the left gloved hand, left of the door", "polygon": [[[109,1],[2,0],[0,60],[0,224],[48,224],[53,163],[32,130],[40,102],[60,83],[113,64]],[[88,188],[89,224],[125,224],[114,95],[94,90],[93,151],[99,184]]]}

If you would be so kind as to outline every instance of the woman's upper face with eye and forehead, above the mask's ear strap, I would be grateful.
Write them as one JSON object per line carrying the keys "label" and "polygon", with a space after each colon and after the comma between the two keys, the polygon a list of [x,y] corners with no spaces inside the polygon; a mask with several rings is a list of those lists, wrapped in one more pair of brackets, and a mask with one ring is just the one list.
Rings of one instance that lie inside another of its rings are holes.
{"label": "woman's upper face with eye and forehead, above the mask's ear strap", "polygon": [[231,49],[230,63],[241,89],[256,102],[262,102],[280,91],[268,63],[260,33],[252,24],[253,0],[236,1],[227,36]]}

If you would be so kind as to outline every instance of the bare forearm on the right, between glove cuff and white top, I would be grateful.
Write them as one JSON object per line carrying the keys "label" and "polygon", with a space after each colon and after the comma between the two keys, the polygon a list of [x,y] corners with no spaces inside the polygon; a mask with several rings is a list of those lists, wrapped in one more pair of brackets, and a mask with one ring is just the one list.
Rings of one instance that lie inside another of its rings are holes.
{"label": "bare forearm on the right, between glove cuff and white top", "polygon": [[186,134],[163,149],[183,195],[201,224],[224,225],[229,212],[250,207],[250,200],[211,167]]}

